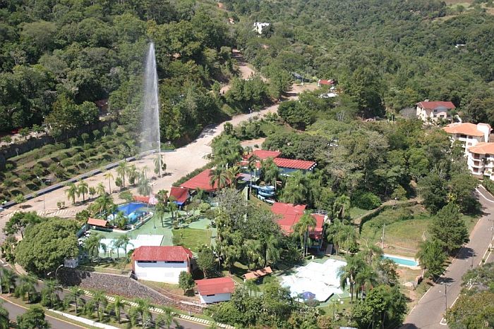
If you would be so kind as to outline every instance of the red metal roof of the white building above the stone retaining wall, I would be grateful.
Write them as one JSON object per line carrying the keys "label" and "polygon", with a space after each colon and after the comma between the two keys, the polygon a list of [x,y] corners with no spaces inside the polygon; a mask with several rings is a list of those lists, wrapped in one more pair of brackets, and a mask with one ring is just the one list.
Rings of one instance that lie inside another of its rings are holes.
{"label": "red metal roof of the white building above the stone retaining wall", "polygon": [[192,252],[182,246],[142,246],[132,253],[134,261],[186,261]]}

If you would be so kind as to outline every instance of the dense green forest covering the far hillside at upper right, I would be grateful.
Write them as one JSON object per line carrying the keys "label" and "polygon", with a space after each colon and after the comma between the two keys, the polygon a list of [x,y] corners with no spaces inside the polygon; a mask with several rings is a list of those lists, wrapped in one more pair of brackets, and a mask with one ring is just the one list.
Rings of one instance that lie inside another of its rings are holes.
{"label": "dense green forest covering the far hillside at upper right", "polygon": [[[367,117],[431,99],[494,123],[494,17],[481,2],[463,13],[421,0],[224,3],[248,18],[238,46],[268,76],[336,78]],[[258,37],[253,21],[271,26]]]}

